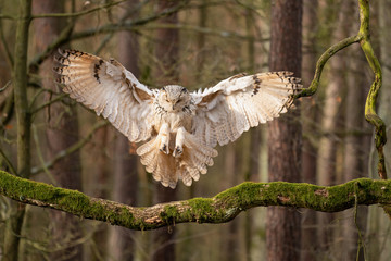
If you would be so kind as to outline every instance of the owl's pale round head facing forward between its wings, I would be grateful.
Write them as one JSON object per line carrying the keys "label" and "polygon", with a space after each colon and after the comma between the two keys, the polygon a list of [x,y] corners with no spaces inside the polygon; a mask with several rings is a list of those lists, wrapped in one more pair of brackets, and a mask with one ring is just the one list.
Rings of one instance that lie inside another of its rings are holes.
{"label": "owl's pale round head facing forward between its wings", "polygon": [[160,90],[159,104],[167,112],[181,111],[190,103],[191,97],[185,87],[167,85]]}

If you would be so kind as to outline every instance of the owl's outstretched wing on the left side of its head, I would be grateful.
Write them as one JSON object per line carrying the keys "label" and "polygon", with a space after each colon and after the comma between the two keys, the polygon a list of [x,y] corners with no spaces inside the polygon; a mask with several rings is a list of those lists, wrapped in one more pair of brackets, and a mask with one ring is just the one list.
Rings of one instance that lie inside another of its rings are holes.
{"label": "owl's outstretched wing on the left side of its head", "polygon": [[151,136],[153,91],[115,60],[75,50],[59,52],[54,70],[64,92],[108,119],[130,141]]}

